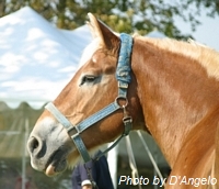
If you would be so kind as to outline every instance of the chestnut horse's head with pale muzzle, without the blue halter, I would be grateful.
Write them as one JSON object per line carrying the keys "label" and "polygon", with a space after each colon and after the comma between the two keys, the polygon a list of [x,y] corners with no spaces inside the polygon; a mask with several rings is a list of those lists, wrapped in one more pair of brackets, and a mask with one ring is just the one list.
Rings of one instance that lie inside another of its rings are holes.
{"label": "chestnut horse's head with pale muzzle, without the blue halter", "polygon": [[67,124],[71,126],[69,130],[65,129],[57,118],[59,115],[55,116],[53,111],[46,109],[27,142],[32,166],[48,176],[61,173],[79,162],[80,152],[71,137],[78,131],[73,130],[74,125],[80,126],[83,120],[112,102],[118,109],[77,133],[77,136],[80,135],[79,143],[83,143],[90,155],[101,145],[123,134],[124,114],[131,116],[134,129],[141,126],[142,112],[137,96],[137,81],[131,70],[127,97],[118,97],[118,81],[115,75],[120,49],[119,35],[91,13],[89,18],[88,24],[94,41],[85,48],[79,70],[53,102],[55,111],[61,113],[61,119],[68,120]]}

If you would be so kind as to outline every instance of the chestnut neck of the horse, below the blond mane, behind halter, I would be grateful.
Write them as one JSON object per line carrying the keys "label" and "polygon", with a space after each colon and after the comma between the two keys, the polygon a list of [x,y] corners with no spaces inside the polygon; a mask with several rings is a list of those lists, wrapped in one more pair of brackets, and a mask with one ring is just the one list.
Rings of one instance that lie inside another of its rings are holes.
{"label": "chestnut neck of the horse, below the blond mane, behind halter", "polygon": [[196,60],[147,41],[135,42],[131,64],[146,124],[173,166],[187,135],[219,104],[210,97],[219,84]]}

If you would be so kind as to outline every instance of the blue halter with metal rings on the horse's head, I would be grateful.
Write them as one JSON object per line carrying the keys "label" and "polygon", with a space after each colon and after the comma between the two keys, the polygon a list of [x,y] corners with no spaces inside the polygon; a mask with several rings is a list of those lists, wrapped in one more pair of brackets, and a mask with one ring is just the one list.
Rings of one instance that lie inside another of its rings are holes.
{"label": "blue halter with metal rings on the horse's head", "polygon": [[[103,108],[102,110],[97,111],[96,113],[92,114],[91,116],[87,118],[85,120],[81,121],[77,125],[72,125],[71,122],[54,105],[53,102],[46,104],[45,109],[47,109],[59,123],[61,123],[68,131],[69,135],[73,133],[71,136],[74,145],[77,146],[80,155],[82,156],[84,163],[91,160],[89,152],[80,137],[80,133],[84,130],[93,125],[94,123],[99,122],[100,120],[104,119],[105,116],[112,114],[113,112],[122,109],[124,110],[124,133],[103,153],[101,153],[96,159],[103,156],[105,153],[111,151],[117,143],[126,135],[129,134],[129,131],[132,127],[132,119],[126,112],[126,107],[128,104],[127,100],[127,90],[128,85],[130,84],[130,54],[132,49],[132,37],[122,33],[120,34],[120,51],[118,56],[118,64],[116,68],[116,79],[118,81],[118,96],[116,97],[115,101],[108,104],[107,107]],[[125,104],[120,105],[118,103],[119,100],[125,100]]]}

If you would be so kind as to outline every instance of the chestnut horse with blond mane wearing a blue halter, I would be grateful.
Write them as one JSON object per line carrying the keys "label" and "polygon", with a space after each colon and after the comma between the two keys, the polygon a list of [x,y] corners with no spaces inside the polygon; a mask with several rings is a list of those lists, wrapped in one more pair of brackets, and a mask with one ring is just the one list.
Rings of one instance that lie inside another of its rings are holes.
{"label": "chestnut horse with blond mane wearing a blue halter", "polygon": [[166,189],[219,188],[219,53],[118,34],[93,14],[89,19],[94,40],[80,68],[30,134],[32,167],[57,175],[81,157],[90,160],[103,144],[115,141],[111,149],[130,130],[142,130],[172,169]]}

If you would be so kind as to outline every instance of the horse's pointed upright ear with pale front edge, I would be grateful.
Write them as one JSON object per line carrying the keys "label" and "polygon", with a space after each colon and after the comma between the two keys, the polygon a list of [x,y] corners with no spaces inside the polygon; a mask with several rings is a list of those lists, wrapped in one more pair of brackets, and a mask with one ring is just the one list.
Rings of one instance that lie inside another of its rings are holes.
{"label": "horse's pointed upright ear with pale front edge", "polygon": [[88,25],[91,29],[93,37],[99,37],[101,40],[101,45],[112,49],[119,42],[119,38],[115,33],[103,22],[97,20],[92,13],[88,13],[90,22]]}

